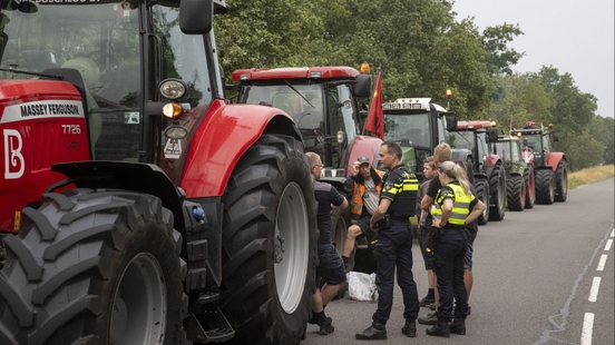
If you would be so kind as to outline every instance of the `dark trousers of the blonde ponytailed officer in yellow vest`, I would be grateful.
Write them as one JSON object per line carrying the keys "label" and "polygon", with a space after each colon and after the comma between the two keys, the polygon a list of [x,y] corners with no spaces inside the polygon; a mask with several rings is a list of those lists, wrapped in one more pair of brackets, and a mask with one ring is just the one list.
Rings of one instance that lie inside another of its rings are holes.
{"label": "dark trousers of the blonde ponytailed officer in yellow vest", "polygon": [[455,317],[468,315],[468,293],[463,283],[463,262],[468,249],[468,237],[463,229],[446,229],[445,235],[433,246],[435,272],[438,276],[440,308],[438,317],[442,321],[452,318],[452,298],[456,300]]}

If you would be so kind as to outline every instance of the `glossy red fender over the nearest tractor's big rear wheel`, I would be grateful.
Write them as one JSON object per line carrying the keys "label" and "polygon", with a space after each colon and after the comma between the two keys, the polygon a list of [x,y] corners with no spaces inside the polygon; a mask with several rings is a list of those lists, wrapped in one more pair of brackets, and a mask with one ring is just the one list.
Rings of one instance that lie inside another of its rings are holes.
{"label": "glossy red fender over the nearest tractor's big rear wheel", "polygon": [[192,137],[179,187],[188,198],[222,196],[235,165],[263,134],[287,135],[302,142],[283,110],[214,101]]}

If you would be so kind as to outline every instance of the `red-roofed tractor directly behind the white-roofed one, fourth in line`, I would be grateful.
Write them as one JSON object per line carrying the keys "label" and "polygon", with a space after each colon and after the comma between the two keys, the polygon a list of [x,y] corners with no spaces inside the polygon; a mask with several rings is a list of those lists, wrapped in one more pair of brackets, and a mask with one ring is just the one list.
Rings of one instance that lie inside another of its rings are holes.
{"label": "red-roofed tractor directly behind the white-roofed one, fourth in line", "polygon": [[[468,164],[474,171],[477,197],[487,206],[478,224],[501,220],[506,211],[506,172],[498,155],[490,154],[490,142],[498,140],[498,132],[491,121],[459,121],[457,131],[451,132],[452,158]],[[468,174],[470,175],[470,174]]]}

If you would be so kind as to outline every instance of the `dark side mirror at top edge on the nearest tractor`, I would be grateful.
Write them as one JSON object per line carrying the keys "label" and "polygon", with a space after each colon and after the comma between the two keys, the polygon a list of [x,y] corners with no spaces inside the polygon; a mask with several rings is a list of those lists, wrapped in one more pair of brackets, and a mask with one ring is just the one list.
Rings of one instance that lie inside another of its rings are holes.
{"label": "dark side mirror at top edge on the nearest tractor", "polygon": [[214,2],[182,0],[179,3],[179,28],[186,34],[205,34],[212,31]]}

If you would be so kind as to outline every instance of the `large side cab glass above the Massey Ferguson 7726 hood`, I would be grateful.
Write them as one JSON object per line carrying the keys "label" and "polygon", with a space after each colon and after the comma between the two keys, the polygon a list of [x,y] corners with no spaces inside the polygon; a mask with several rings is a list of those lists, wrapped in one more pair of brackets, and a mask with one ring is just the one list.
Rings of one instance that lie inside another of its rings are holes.
{"label": "large side cab glass above the Massey Ferguson 7726 hood", "polygon": [[[16,2],[3,3],[11,7]],[[84,92],[95,159],[137,160],[141,100],[138,9],[120,2],[28,3],[29,11],[18,8],[0,16],[0,37],[6,43],[0,49],[0,78],[57,79],[65,70],[77,70],[80,80],[66,80]]]}

